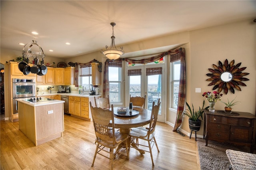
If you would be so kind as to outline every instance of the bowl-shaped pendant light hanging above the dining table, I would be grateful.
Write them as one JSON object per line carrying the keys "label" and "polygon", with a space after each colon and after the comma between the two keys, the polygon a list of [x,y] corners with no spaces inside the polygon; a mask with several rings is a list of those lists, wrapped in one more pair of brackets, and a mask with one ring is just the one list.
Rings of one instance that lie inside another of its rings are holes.
{"label": "bowl-shaped pendant light hanging above the dining table", "polygon": [[116,49],[116,45],[115,45],[115,36],[114,36],[114,26],[116,25],[116,23],[111,22],[110,25],[112,26],[112,36],[111,36],[111,45],[108,49],[108,45],[106,45],[106,50],[100,50],[101,53],[103,53],[108,59],[118,59],[121,55],[124,54],[123,47],[120,47],[120,50]]}

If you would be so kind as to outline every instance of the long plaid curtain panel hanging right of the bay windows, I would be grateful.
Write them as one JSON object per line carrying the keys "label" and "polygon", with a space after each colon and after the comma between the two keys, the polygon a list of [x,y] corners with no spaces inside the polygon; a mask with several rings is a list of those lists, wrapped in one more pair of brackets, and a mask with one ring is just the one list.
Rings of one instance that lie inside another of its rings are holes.
{"label": "long plaid curtain panel hanging right of the bay windows", "polygon": [[182,113],[184,110],[184,104],[186,99],[186,62],[185,62],[185,49],[179,48],[168,51],[170,54],[171,62],[180,60],[180,86],[178,95],[178,109],[176,113],[176,122],[173,131],[177,130],[182,123]]}

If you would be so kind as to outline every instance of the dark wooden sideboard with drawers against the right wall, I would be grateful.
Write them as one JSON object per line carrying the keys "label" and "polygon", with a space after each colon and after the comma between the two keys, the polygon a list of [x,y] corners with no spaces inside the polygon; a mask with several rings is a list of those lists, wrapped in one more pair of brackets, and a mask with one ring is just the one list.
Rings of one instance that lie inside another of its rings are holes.
{"label": "dark wooden sideboard with drawers against the right wall", "polygon": [[253,152],[256,136],[256,116],[245,112],[234,112],[234,114],[236,115],[226,115],[224,111],[212,113],[204,109],[206,146],[208,145],[208,140],[230,142],[249,146],[251,152]]}

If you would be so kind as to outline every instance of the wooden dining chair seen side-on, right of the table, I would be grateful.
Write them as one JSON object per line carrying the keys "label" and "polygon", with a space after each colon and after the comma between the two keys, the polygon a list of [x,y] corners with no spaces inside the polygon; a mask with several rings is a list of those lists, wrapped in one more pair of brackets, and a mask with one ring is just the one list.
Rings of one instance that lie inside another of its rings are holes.
{"label": "wooden dining chair seen side-on, right of the table", "polygon": [[[129,137],[130,137],[129,140],[131,141],[129,145],[129,151],[130,151],[130,148],[134,148],[134,146],[138,146],[138,148],[141,147],[140,148],[141,150],[144,150],[145,152],[150,152],[152,166],[154,166],[153,155],[152,155],[152,148],[154,144],[156,144],[157,151],[160,152],[156,143],[156,138],[154,136],[160,105],[161,105],[160,99],[158,99],[157,105],[155,105],[155,102],[153,102],[150,123],[147,127],[132,128],[132,130],[129,133]],[[131,140],[131,138],[134,138],[134,140]],[[148,142],[148,145],[139,144],[138,142],[139,139],[146,140]]]}

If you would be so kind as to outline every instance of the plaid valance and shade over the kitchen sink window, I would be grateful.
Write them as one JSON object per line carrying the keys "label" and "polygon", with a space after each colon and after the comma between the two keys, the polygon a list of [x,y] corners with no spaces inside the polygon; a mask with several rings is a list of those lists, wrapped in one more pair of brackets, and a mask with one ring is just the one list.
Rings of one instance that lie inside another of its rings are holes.
{"label": "plaid valance and shade over the kitchen sink window", "polygon": [[[76,63],[75,65],[75,87],[79,86],[78,78],[79,76],[91,76],[92,75],[92,69],[87,67],[92,67],[91,63],[100,63],[98,60],[93,59],[92,61],[89,61],[88,63]],[[102,66],[102,63],[100,63]],[[82,73],[79,75],[79,69],[82,69]],[[89,73],[90,71],[91,73]]]}

